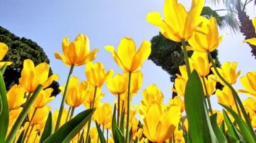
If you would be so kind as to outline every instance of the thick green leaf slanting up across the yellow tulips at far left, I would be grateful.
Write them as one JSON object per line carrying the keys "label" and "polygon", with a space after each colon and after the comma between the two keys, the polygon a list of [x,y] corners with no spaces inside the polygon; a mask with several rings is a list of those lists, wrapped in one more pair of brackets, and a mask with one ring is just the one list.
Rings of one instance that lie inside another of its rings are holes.
{"label": "thick green leaf slanting up across the yellow tulips at far left", "polygon": [[[36,97],[38,97],[41,90],[42,90],[42,85],[38,85],[36,87],[36,90],[32,94],[32,96],[30,97],[30,99],[28,99],[25,107],[22,109],[22,112],[18,116],[16,122],[13,124],[13,127],[11,128],[11,131],[9,132],[9,135],[7,136],[5,142],[13,142],[13,140],[15,138],[15,135],[17,134],[18,130],[20,129],[20,126],[22,126],[22,122],[24,121],[26,115],[28,114],[28,111],[29,111],[30,107],[32,106],[32,104],[36,100]],[[9,117],[9,114],[8,114],[8,117]],[[8,124],[7,124],[7,126],[8,126]]]}

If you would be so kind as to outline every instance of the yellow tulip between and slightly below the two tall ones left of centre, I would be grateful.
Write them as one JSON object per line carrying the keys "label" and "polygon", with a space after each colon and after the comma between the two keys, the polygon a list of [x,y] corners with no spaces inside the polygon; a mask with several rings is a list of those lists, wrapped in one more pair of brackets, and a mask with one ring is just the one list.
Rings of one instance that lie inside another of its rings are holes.
{"label": "yellow tulip between and slightly below the two tall ones left of centre", "polygon": [[101,87],[113,73],[114,70],[112,69],[108,70],[106,73],[104,65],[100,62],[96,62],[95,64],[88,62],[88,64],[86,64],[86,77],[89,83],[94,85],[94,87]]}

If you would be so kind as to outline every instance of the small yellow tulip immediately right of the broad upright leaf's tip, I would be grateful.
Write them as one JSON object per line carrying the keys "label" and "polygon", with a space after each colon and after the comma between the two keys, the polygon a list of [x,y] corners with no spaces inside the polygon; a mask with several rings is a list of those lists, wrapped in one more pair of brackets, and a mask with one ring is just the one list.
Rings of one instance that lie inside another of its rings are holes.
{"label": "small yellow tulip immediately right of the broad upright leaf's tip", "polygon": [[[208,75],[208,77],[203,77],[205,81],[205,85],[207,88],[207,93],[209,96],[214,94],[214,91],[216,89],[216,80],[214,80],[214,75]],[[201,79],[201,83],[203,84],[203,79]],[[203,86],[203,92],[206,95],[205,87]]]}

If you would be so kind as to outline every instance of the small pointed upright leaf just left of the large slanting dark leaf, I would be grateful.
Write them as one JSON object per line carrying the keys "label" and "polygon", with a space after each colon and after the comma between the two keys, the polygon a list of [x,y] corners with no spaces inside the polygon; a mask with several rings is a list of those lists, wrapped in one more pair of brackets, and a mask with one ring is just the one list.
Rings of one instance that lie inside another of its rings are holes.
{"label": "small pointed upright leaf just left of the large slanting dark leaf", "polygon": [[40,138],[40,142],[44,142],[44,140],[51,136],[51,134],[53,134],[53,117],[50,111],[44,126],[44,131],[42,132],[42,137]]}

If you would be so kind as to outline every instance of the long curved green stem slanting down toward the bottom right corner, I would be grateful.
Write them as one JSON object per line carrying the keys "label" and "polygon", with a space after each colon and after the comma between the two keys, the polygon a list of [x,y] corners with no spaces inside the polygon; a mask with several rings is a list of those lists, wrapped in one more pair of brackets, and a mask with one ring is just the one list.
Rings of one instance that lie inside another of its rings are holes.
{"label": "long curved green stem slanting down toward the bottom right corner", "polygon": [[[245,107],[243,106],[243,103],[241,101],[241,99],[238,97],[238,94],[236,93],[236,90],[234,90],[234,88],[232,87],[232,85],[230,85],[221,75],[220,73],[218,72],[217,70],[217,67],[216,67],[216,64],[214,63],[214,60],[212,59],[212,55],[210,54],[210,52],[208,51],[207,52],[211,62],[212,62],[212,65],[214,66],[214,70],[216,71],[218,77],[220,77],[220,79],[222,79],[222,81],[230,88],[230,90],[232,91],[232,95],[234,97],[234,102],[238,103],[239,107],[241,108],[241,111],[243,113],[243,116],[245,117],[245,122],[247,123],[247,126],[249,127],[249,130],[251,132],[251,134],[255,134],[254,130],[253,130],[253,127],[251,126],[251,122],[250,122],[250,118],[249,116],[247,115],[247,112],[245,111]],[[238,109],[238,105],[236,103],[236,109],[238,111],[238,114],[241,116],[241,113],[240,113],[240,110]],[[253,136],[253,139],[256,140],[256,136]]]}

